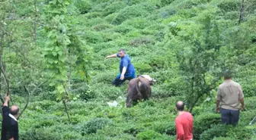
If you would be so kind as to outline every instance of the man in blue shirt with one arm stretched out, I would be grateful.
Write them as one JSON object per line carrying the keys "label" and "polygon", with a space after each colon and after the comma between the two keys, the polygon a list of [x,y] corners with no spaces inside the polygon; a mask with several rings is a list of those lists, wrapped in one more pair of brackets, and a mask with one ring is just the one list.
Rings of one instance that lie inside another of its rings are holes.
{"label": "man in blue shirt with one arm stretched out", "polygon": [[130,80],[135,78],[135,69],[126,51],[120,49],[117,54],[108,55],[106,58],[120,58],[120,74],[118,74],[116,79],[112,82],[113,85],[120,86],[126,79]]}

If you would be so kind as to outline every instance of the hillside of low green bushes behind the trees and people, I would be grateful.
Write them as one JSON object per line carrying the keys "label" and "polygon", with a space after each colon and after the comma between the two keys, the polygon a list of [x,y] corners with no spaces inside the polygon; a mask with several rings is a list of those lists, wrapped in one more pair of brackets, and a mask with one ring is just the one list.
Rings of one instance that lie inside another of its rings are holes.
{"label": "hillside of low green bushes behind the trees and people", "polygon": [[[22,5],[16,4],[18,17],[33,14],[32,1],[30,8]],[[45,5],[44,1],[38,4],[39,14]],[[194,107],[194,139],[256,139],[256,124],[248,125],[256,115],[256,3],[245,2],[244,18],[239,24],[240,8],[238,0],[74,0],[70,5],[70,12],[75,15],[73,30],[93,50],[91,83],[86,85],[75,76],[72,79],[72,95],[67,102],[71,123],[62,102],[56,101],[53,87],[43,86],[31,95],[19,120],[21,139],[175,139],[174,104],[179,100],[187,103],[189,94],[179,55],[193,46],[194,39],[202,40],[206,17],[211,20],[211,29],[218,27],[217,31],[209,31],[219,35],[218,39],[210,38],[218,40],[213,44],[219,46],[216,64],[235,71],[234,80],[242,85],[246,110],[241,112],[238,126],[221,125],[220,114],[215,112],[216,89],[222,83],[219,79],[216,88],[203,95]],[[41,33],[42,25],[37,28],[39,48],[43,48],[47,38]],[[26,23],[19,26],[26,29]],[[27,39],[33,42],[33,37]],[[152,86],[152,98],[131,108],[125,107],[128,82],[120,87],[111,85],[119,73],[119,59],[104,59],[120,48],[130,54],[137,75],[149,74],[157,80]],[[34,78],[45,74],[45,67],[40,66],[44,63],[40,52],[35,49],[26,53],[31,56],[27,59],[34,63],[32,67],[37,67],[27,80],[43,82],[47,76]],[[40,60],[35,62],[32,56]],[[12,66],[19,60],[9,63]],[[18,68],[11,73],[16,74],[13,79],[25,77],[26,71],[18,76]],[[209,74],[206,79],[213,76]],[[18,81],[13,85],[18,85]],[[19,92],[12,95],[21,106],[25,97]],[[118,102],[117,107],[107,104],[113,101]]]}

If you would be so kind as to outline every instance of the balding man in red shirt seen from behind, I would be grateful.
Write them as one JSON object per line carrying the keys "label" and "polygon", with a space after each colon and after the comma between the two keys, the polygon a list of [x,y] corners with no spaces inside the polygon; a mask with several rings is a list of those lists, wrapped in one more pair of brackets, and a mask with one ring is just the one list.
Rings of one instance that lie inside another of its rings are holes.
{"label": "balding man in red shirt seen from behind", "polygon": [[175,119],[176,124],[176,140],[192,140],[193,138],[193,117],[189,112],[184,111],[184,103],[178,101],[176,103],[178,117]]}

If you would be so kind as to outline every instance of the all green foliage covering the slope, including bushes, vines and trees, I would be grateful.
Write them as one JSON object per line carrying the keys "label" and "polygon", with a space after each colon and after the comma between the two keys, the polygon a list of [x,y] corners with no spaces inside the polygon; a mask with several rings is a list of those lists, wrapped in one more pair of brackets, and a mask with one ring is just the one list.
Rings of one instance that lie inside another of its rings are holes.
{"label": "all green foliage covering the slope, including bushes, vines and trees", "polygon": [[[21,108],[23,87],[30,92],[24,140],[174,139],[179,100],[194,115],[194,139],[256,139],[255,9],[254,0],[2,0],[0,92],[9,85]],[[131,108],[127,82],[111,85],[119,60],[104,59],[120,48],[136,74],[157,80],[152,98]],[[236,127],[215,112],[227,69],[245,95]]]}

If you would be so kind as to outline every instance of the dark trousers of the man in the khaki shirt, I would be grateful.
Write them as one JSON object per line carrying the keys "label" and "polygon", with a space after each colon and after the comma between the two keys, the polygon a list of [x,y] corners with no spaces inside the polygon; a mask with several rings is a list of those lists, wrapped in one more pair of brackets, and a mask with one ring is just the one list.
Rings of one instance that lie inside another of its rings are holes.
{"label": "dark trousers of the man in the khaki shirt", "polygon": [[223,124],[237,125],[239,120],[239,110],[228,110],[220,108],[220,114]]}

